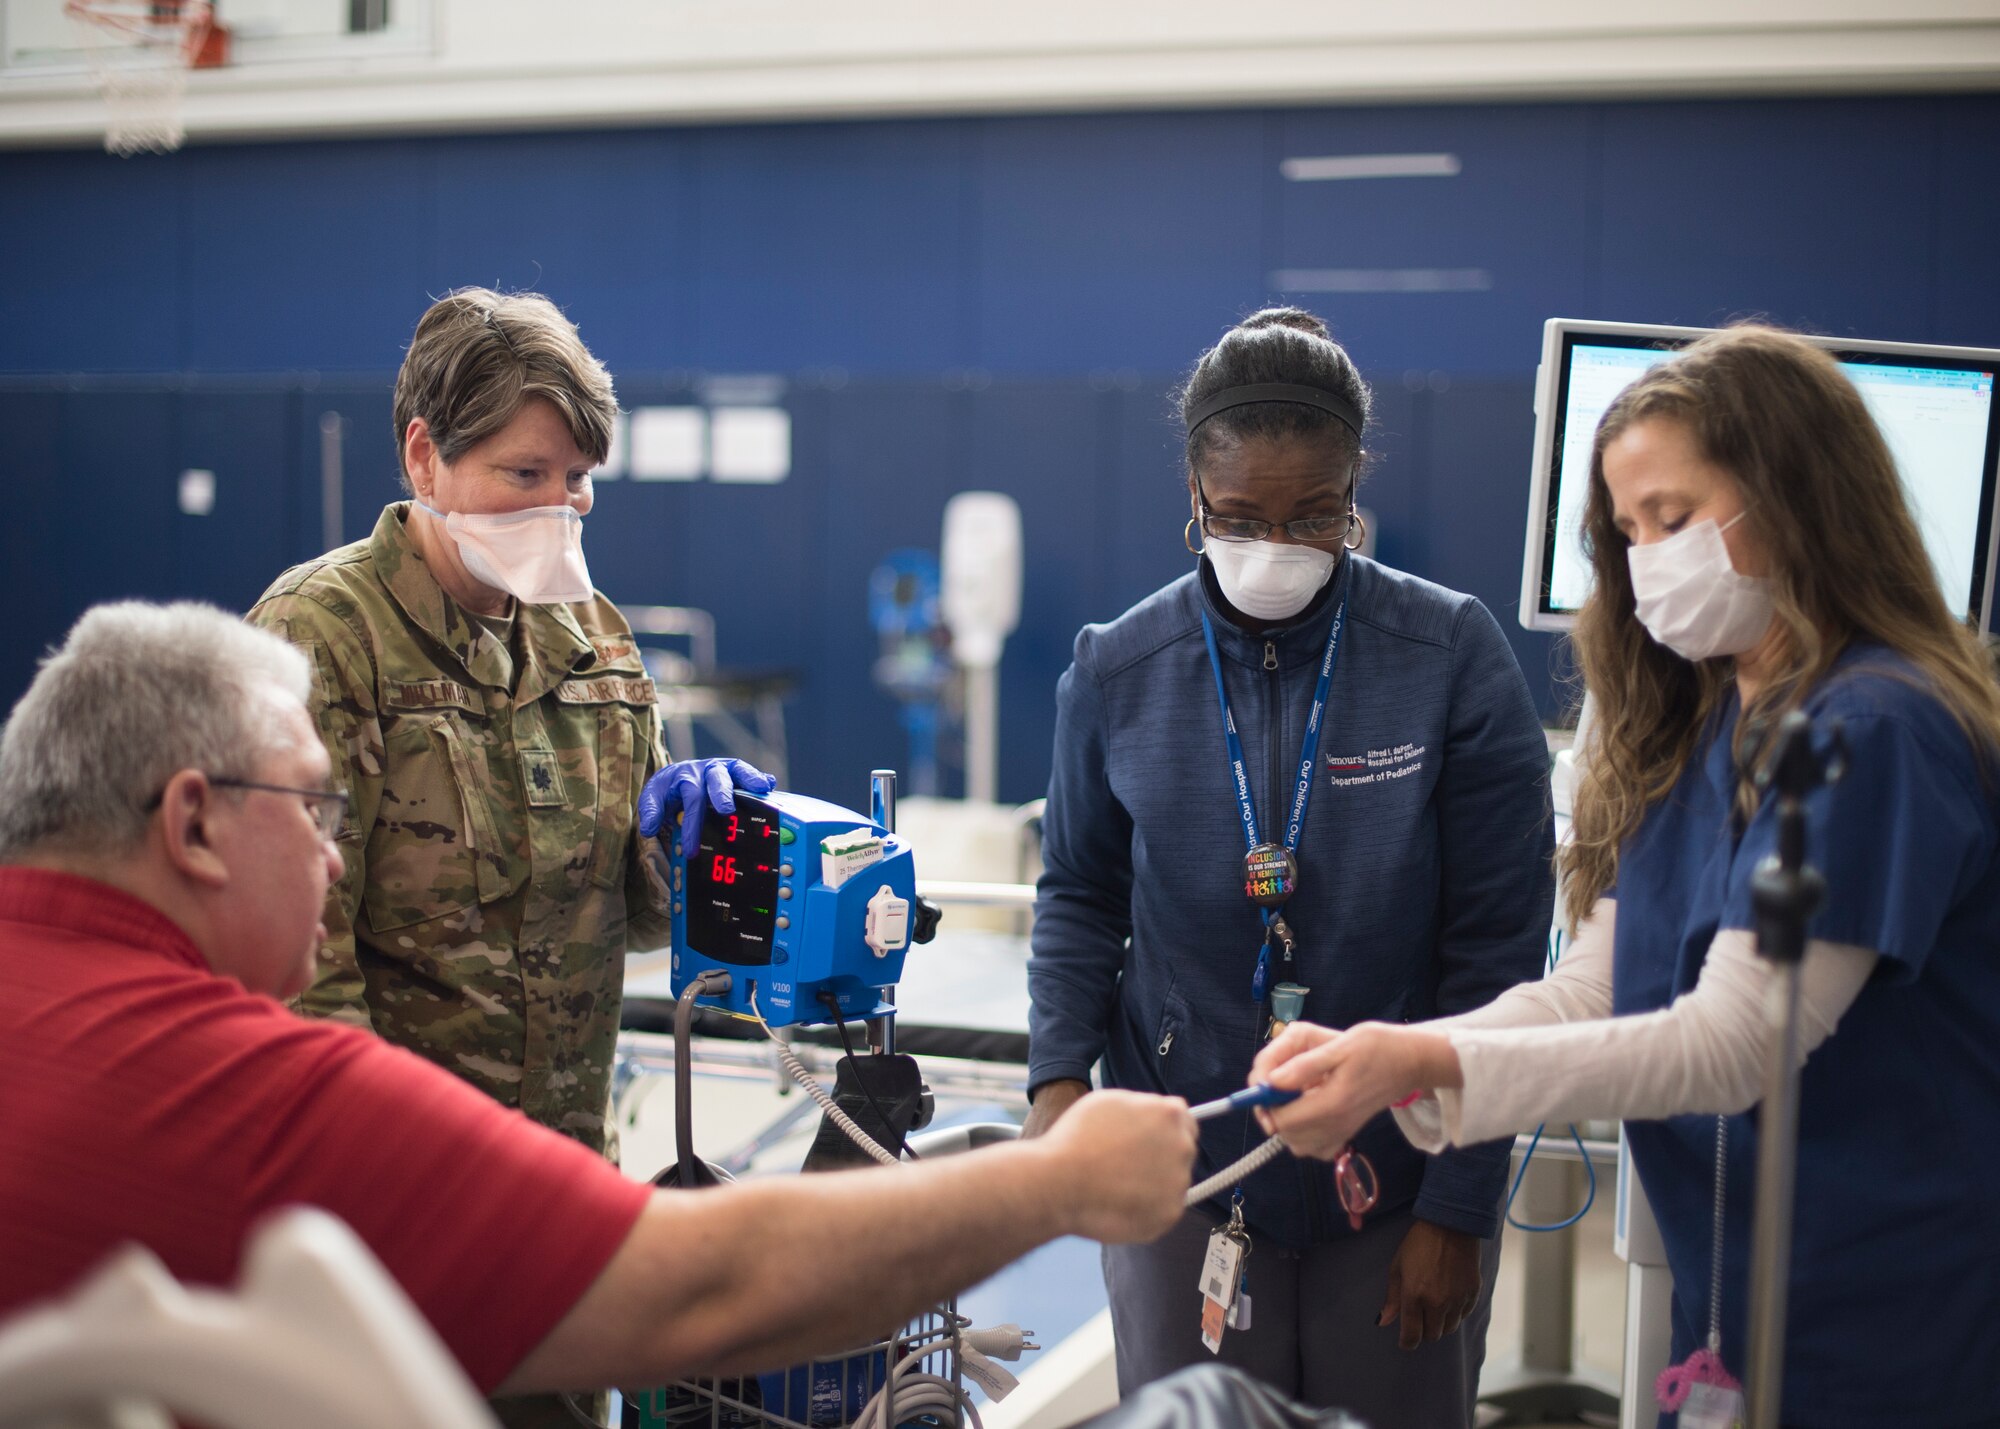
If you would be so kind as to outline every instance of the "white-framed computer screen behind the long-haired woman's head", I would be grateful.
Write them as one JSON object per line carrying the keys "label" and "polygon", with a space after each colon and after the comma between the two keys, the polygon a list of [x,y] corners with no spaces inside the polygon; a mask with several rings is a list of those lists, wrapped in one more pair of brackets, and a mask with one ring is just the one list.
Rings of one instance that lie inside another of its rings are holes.
{"label": "white-framed computer screen behind the long-haired woman's head", "polygon": [[[1598,418],[1640,372],[1710,328],[1550,318],[1534,386],[1534,478],[1522,560],[1520,622],[1566,630],[1590,594],[1578,532],[1590,490]],[[1946,604],[1978,628],[1992,622],[1994,468],[2000,352],[1910,342],[1806,338],[1828,348],[1882,428],[1944,586]]]}

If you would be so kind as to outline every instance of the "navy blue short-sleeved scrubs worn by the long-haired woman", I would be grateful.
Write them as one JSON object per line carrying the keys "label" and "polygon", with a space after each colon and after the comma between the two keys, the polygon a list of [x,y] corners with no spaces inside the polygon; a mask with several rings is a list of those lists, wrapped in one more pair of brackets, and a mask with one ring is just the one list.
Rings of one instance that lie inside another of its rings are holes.
{"label": "navy blue short-sleeved scrubs worn by the long-haired woman", "polygon": [[[1802,1075],[1784,1423],[2000,1425],[2000,771],[1924,678],[1850,648],[1804,704],[1848,769],[1806,801],[1826,875],[1810,935],[1880,955]],[[1614,1005],[1694,987],[1718,929],[1754,927],[1774,803],[1730,819],[1730,694],[1618,859]],[[1714,1117],[1628,1123],[1674,1271],[1674,1359],[1706,1339]],[[1724,1361],[1748,1359],[1756,1117],[1730,1117]],[[1670,1419],[1668,1419],[1670,1421]]]}

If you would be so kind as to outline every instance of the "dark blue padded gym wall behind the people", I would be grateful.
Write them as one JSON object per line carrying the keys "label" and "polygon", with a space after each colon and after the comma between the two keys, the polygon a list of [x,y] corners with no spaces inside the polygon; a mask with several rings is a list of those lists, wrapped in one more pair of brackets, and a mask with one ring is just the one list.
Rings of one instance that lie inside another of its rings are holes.
{"label": "dark blue padded gym wall behind the people", "polygon": [[[1280,168],[1378,152],[1460,172]],[[614,598],[714,610],[724,662],[796,670],[794,787],[900,763],[868,572],[994,488],[1028,562],[1000,791],[1040,793],[1076,626],[1188,564],[1170,388],[1272,300],[1326,314],[1376,384],[1378,554],[1480,594],[1552,714],[1552,640],[1514,624],[1542,320],[1994,344],[1994,172],[1990,96],[0,152],[0,698],[94,600],[244,606],[316,552],[330,412],[366,534],[402,344],[484,282],[562,302],[628,408],[778,378],[782,482],[600,482],[586,550]],[[216,476],[208,514],[186,468]],[[772,554],[754,580],[744,542]]]}

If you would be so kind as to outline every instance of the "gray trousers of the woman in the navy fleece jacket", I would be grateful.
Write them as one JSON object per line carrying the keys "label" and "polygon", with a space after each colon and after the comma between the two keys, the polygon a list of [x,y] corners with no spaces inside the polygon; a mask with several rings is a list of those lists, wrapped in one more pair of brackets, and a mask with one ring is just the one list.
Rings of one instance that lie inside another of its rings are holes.
{"label": "gray trousers of the woman in the navy fleece jacket", "polygon": [[1152,1245],[1104,1247],[1118,1341],[1118,1393],[1186,1365],[1224,1363],[1316,1409],[1346,1409],[1370,1429],[1470,1429],[1486,1359],[1500,1237],[1480,1253],[1480,1303],[1456,1333],[1398,1349],[1400,1325],[1376,1327],[1388,1263],[1412,1215],[1384,1215],[1344,1241],[1304,1251],[1254,1245],[1250,1329],[1202,1345],[1202,1257],[1214,1223],[1190,1211]]}

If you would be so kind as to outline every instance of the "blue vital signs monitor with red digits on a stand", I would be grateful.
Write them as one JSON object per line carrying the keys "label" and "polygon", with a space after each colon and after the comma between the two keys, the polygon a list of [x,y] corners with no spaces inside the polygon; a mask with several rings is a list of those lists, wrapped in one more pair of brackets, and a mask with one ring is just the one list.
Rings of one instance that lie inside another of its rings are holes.
{"label": "blue vital signs monitor with red digits on a stand", "polygon": [[916,897],[910,847],[852,809],[806,795],[736,791],[736,813],[708,811],[694,859],[670,845],[674,993],[710,969],[728,993],[702,1007],[770,1027],[888,1017],[882,989],[902,979],[910,943],[930,941],[934,909]]}

